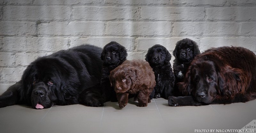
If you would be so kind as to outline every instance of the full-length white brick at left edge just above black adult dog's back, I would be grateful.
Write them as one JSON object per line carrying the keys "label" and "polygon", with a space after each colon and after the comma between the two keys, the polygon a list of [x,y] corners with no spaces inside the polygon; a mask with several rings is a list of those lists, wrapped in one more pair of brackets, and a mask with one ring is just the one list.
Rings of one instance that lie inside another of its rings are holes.
{"label": "full-length white brick at left edge just above black adult dog's back", "polygon": [[3,39],[3,51],[38,52],[68,49],[67,38],[13,38]]}

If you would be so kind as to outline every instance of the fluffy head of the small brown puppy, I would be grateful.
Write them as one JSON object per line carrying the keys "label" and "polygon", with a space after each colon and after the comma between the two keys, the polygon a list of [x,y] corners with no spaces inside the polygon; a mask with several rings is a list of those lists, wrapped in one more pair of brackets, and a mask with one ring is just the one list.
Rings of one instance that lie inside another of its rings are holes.
{"label": "fluffy head of the small brown puppy", "polygon": [[136,81],[138,70],[131,64],[120,65],[110,72],[109,80],[116,93],[127,92]]}

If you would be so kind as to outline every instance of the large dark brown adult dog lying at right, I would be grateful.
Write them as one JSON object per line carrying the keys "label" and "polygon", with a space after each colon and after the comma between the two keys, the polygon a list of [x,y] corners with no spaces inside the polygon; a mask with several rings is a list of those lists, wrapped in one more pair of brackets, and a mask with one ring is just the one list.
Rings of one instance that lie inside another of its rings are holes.
{"label": "large dark brown adult dog lying at right", "polygon": [[181,97],[169,97],[169,106],[229,104],[256,99],[256,56],[243,47],[212,48],[191,62]]}

